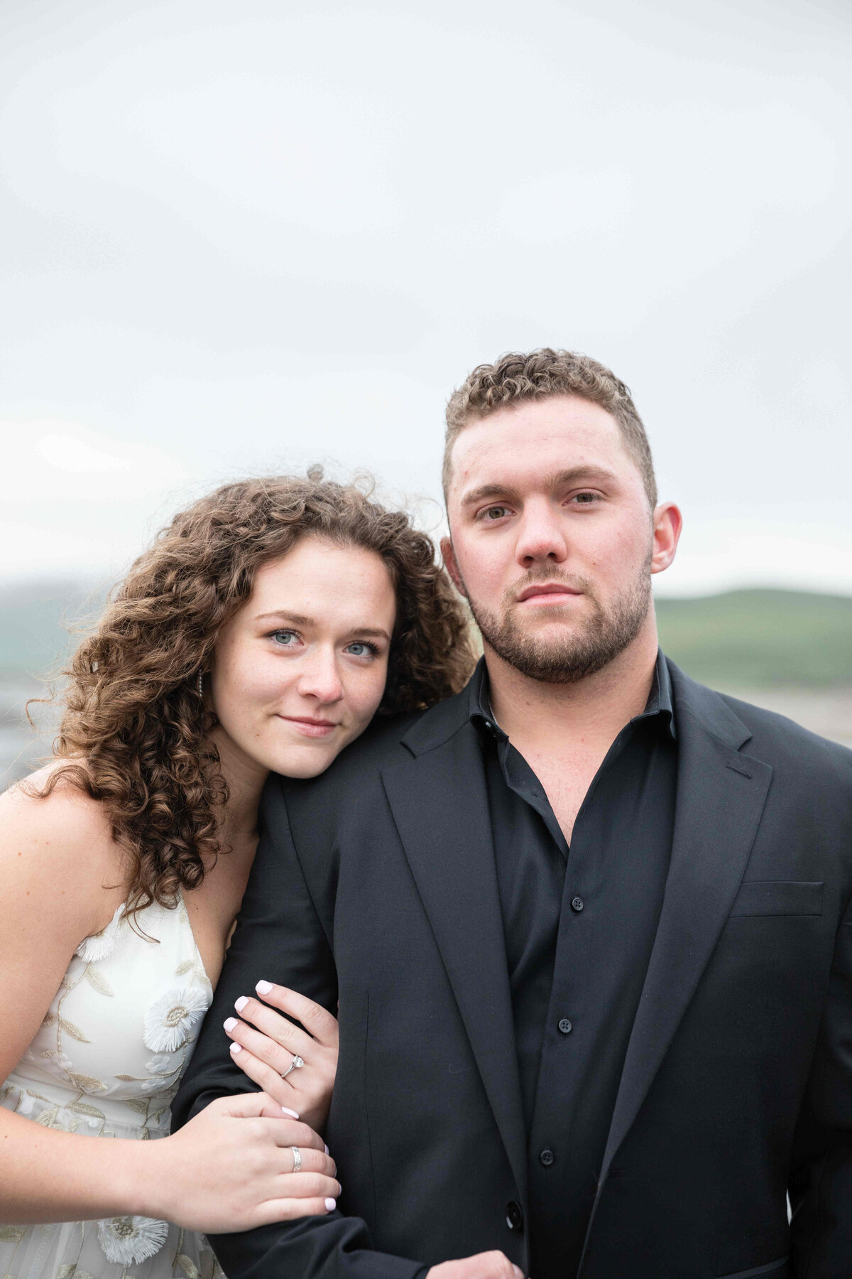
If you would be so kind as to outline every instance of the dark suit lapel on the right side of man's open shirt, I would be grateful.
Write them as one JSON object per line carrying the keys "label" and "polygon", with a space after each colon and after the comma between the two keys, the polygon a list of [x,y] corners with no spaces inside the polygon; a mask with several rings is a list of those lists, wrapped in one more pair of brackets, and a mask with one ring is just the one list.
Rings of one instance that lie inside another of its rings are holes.
{"label": "dark suit lapel on the right side of man's open shirt", "polygon": [[598,1196],[719,939],[751,853],[773,771],[763,760],[740,753],[737,747],[751,734],[722,698],[686,679],[677,668],[671,669],[678,735],[672,859]]}

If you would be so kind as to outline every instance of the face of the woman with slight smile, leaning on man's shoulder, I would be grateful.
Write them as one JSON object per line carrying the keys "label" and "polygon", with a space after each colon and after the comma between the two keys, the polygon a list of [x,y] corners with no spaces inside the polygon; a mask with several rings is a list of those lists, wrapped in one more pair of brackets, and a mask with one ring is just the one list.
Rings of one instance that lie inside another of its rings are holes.
{"label": "face of the woman with slight smile, leaning on man's shoulder", "polygon": [[378,709],[395,619],[373,551],[309,536],[263,565],[213,655],[222,760],[290,778],[327,769]]}

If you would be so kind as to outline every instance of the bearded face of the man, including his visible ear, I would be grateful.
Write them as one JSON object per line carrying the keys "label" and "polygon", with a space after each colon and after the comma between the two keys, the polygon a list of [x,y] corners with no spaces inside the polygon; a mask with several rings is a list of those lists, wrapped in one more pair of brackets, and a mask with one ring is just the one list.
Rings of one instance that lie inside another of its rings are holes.
{"label": "bearded face of the man, including his visible ear", "polygon": [[457,436],[447,567],[485,643],[534,679],[608,665],[650,616],[680,513],[651,513],[614,418],[575,395],[498,409]]}

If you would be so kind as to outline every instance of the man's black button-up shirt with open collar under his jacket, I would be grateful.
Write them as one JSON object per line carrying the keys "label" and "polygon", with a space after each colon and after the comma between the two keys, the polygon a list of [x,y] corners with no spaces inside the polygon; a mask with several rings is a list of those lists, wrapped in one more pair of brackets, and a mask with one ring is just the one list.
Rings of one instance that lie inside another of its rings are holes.
{"label": "man's black button-up shirt with open collar under his jacket", "polygon": [[579,1262],[672,848],[677,742],[658,656],[644,712],[604,758],[571,847],[542,783],[471,683],[529,1140],[530,1273]]}

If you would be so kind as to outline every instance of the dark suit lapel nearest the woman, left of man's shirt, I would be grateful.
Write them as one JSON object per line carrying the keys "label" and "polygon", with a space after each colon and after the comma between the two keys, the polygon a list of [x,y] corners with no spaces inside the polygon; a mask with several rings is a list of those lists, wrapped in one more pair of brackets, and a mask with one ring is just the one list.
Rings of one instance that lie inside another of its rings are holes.
{"label": "dark suit lapel nearest the woman, left of man's shirt", "polygon": [[506,944],[485,774],[475,729],[464,724],[448,741],[384,769],[382,776],[525,1201],[526,1138]]}

